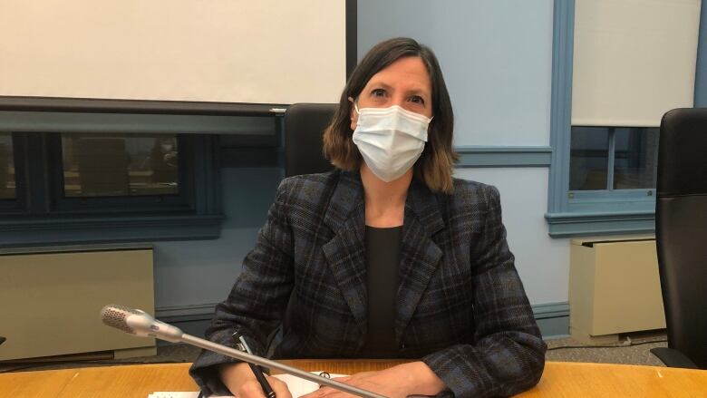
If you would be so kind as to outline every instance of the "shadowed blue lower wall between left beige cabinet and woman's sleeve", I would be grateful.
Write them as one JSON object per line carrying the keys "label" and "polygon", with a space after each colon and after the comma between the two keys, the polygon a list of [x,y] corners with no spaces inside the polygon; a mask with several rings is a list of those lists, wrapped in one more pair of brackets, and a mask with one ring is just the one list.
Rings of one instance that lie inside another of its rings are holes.
{"label": "shadowed blue lower wall between left beige cabinet and woman's sleeve", "polygon": [[165,309],[172,310],[170,315],[191,314],[194,306],[210,313],[226,298],[266,220],[282,169],[224,168],[221,178],[226,219],[220,238],[155,243],[158,314]]}

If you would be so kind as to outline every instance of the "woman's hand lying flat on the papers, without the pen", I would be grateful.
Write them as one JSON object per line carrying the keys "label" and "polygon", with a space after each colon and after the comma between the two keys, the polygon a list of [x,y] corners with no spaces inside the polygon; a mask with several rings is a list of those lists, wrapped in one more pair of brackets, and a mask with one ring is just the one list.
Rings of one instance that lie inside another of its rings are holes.
{"label": "woman's hand lying flat on the papers, without the pen", "polygon": [[[446,388],[444,382],[422,362],[399,364],[383,371],[363,372],[334,380],[391,398],[405,398],[412,394],[436,395]],[[305,397],[335,398],[344,394],[332,387],[322,387]]]}

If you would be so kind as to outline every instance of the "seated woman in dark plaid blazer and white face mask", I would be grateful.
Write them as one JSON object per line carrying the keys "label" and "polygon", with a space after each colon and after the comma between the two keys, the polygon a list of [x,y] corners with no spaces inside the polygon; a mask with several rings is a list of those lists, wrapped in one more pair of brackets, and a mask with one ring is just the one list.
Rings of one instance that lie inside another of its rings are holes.
{"label": "seated woman in dark plaid blazer and white face mask", "polygon": [[[238,331],[265,354],[282,323],[274,357],[417,358],[344,379],[392,397],[509,395],[538,383],[546,345],[499,192],[452,179],[452,126],[431,50],[406,38],[373,47],[324,133],[337,169],[281,183],[208,338],[232,346]],[[247,364],[218,354],[202,353],[191,374],[206,393],[263,396]]]}

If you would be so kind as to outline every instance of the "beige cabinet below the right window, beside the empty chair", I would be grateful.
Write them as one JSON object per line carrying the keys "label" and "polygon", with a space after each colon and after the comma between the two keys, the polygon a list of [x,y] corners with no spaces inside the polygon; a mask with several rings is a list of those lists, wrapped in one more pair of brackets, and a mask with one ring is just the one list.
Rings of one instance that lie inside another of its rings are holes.
{"label": "beige cabinet below the right window, beside the empty chair", "polygon": [[603,344],[617,341],[619,334],[664,327],[654,237],[572,239],[572,337],[587,344]]}

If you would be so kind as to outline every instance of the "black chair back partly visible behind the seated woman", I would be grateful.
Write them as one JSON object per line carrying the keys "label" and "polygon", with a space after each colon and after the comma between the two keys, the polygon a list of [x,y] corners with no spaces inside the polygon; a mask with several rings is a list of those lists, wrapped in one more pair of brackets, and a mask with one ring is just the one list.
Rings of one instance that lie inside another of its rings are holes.
{"label": "black chair back partly visible behind the seated woman", "polygon": [[334,166],[324,159],[322,134],[334,118],[334,103],[295,103],[285,112],[285,176],[321,173]]}

